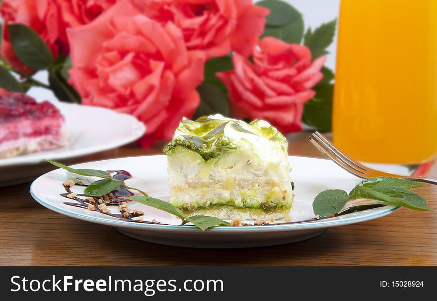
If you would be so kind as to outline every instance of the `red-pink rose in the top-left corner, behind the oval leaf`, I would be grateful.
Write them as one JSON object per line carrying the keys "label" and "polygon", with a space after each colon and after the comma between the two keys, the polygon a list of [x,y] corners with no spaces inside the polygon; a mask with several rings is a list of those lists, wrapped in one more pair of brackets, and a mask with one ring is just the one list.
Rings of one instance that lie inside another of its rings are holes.
{"label": "red-pink rose in the top-left corner, behind the oval leaf", "polygon": [[[6,24],[31,27],[47,43],[56,59],[59,50],[69,53],[66,29],[94,20],[117,0],[3,0],[0,14]],[[7,30],[1,43],[1,55],[18,70],[32,73],[13,53]]]}

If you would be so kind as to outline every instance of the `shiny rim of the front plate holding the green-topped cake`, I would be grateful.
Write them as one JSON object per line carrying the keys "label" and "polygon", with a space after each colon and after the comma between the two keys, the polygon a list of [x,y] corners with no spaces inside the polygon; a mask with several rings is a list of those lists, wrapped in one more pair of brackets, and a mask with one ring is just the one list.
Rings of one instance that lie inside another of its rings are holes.
{"label": "shiny rim of the front plate holding the green-topped cake", "polygon": [[[103,161],[111,161],[111,160],[120,160],[120,159],[133,159],[133,158],[139,158],[139,157],[162,157],[165,155],[146,155],[146,156],[132,156],[132,157],[123,157],[123,158],[112,158],[112,159],[105,159],[105,160],[98,160],[98,161],[91,161],[86,163],[79,163],[74,164],[72,167],[82,164],[89,164],[94,162],[103,162]],[[312,157],[303,157],[303,156],[288,156],[289,158],[306,158],[306,159],[312,159],[312,160],[323,160],[323,161],[330,161],[327,159],[321,159],[321,158],[312,158]],[[95,217],[90,216],[87,214],[82,214],[78,212],[69,211],[67,209],[59,208],[55,205],[52,205],[50,202],[43,200],[41,197],[37,196],[34,191],[34,185],[38,183],[38,181],[42,181],[44,177],[47,177],[51,173],[55,173],[58,170],[61,169],[55,169],[53,171],[50,171],[48,173],[45,173],[44,175],[39,176],[37,179],[32,181],[29,192],[31,196],[41,205],[44,207],[55,211],[57,213],[76,218],[79,220],[97,223],[97,224],[103,224],[113,227],[119,227],[119,228],[130,228],[130,229],[151,229],[154,231],[159,230],[180,230],[180,231],[195,231],[197,233],[201,233],[202,231],[198,229],[197,227],[188,227],[188,226],[181,226],[181,225],[154,225],[154,224],[146,224],[146,223],[131,223],[131,222],[125,222],[120,220],[111,220],[107,218],[102,217]],[[273,225],[273,226],[266,226],[266,227],[259,227],[259,226],[244,226],[244,227],[224,227],[224,226],[216,226],[211,229],[208,229],[207,231],[213,231],[213,232],[248,232],[248,230],[252,230],[255,232],[277,232],[277,231],[298,231],[298,230],[313,230],[313,229],[321,229],[321,228],[330,228],[330,227],[337,227],[337,226],[344,226],[344,225],[350,225],[360,222],[365,222],[369,220],[373,220],[376,218],[384,217],[386,215],[391,214],[394,211],[397,211],[400,209],[400,206],[395,205],[388,205],[384,207],[380,207],[380,209],[368,213],[366,215],[358,215],[355,217],[350,217],[348,219],[338,219],[338,220],[318,220],[318,221],[311,221],[311,222],[302,222],[299,224],[288,224],[288,225]],[[200,231],[200,232],[199,232]]]}

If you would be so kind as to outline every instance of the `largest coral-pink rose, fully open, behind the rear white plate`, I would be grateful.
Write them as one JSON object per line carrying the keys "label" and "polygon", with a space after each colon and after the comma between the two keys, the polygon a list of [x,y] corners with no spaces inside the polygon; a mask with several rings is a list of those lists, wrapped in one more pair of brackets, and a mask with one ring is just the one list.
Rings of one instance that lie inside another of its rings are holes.
{"label": "largest coral-pink rose, fully open, behind the rear white plate", "polygon": [[199,104],[205,54],[187,51],[181,31],[122,0],[92,23],[68,30],[70,83],[85,105],[131,114],[146,124],[142,146],[170,140]]}

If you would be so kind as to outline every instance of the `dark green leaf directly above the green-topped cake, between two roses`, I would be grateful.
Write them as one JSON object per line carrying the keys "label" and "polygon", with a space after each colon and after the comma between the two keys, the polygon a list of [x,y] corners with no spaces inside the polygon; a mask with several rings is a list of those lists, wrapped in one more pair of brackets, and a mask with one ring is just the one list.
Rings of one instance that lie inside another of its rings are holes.
{"label": "dark green leaf directly above the green-topped cake, between two roses", "polygon": [[201,101],[194,113],[193,120],[216,113],[229,116],[229,105],[226,96],[217,86],[202,83],[197,87],[197,91],[199,92]]}

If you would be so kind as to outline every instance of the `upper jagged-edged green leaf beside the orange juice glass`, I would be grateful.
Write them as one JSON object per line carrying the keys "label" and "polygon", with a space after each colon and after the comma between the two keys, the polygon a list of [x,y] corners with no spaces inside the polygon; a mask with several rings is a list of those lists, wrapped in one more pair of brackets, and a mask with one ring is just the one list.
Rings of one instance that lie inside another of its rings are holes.
{"label": "upper jagged-edged green leaf beside the orange juice glass", "polygon": [[313,59],[328,53],[326,48],[331,45],[334,40],[336,25],[337,19],[334,19],[331,22],[324,23],[320,27],[317,27],[314,32],[311,28],[308,28],[303,44],[311,50]]}

